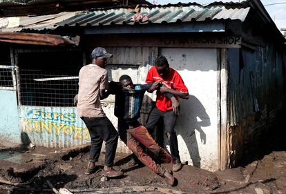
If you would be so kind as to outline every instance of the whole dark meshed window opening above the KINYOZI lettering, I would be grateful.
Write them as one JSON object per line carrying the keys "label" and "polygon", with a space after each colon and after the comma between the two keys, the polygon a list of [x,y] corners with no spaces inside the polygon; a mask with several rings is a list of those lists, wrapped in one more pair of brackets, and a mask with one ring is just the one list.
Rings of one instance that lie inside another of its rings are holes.
{"label": "whole dark meshed window opening above the KINYOZI lettering", "polygon": [[82,55],[78,52],[48,52],[33,56],[33,61],[28,61],[25,54],[19,56],[17,77],[21,105],[74,106]]}

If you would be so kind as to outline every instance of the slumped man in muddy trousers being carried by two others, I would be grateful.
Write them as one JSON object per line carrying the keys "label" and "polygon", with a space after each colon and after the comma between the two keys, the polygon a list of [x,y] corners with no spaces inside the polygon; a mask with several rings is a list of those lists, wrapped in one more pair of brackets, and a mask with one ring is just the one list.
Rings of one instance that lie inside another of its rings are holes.
{"label": "slumped man in muddy trousers being carried by two others", "polygon": [[[146,90],[154,91],[160,88],[160,81],[153,84],[133,84],[131,77],[122,75],[120,86],[111,82],[109,84],[111,94],[115,94],[115,116],[118,117],[118,133],[120,139],[128,146],[133,154],[145,166],[149,167],[154,173],[164,177],[167,184],[173,186],[175,178],[171,173],[156,164],[155,161],[144,153],[140,144],[146,146],[153,154],[164,163],[172,162],[171,155],[161,148],[151,137],[148,130],[137,121],[140,117],[142,100]],[[178,101],[170,96],[174,104]]]}

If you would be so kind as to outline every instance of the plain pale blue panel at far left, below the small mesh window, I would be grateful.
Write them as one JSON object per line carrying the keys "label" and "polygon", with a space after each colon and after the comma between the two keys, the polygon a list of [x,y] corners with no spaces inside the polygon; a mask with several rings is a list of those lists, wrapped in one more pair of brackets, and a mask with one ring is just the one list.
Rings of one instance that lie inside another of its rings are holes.
{"label": "plain pale blue panel at far left, below the small mesh window", "polygon": [[21,144],[17,93],[15,90],[0,90],[0,144]]}

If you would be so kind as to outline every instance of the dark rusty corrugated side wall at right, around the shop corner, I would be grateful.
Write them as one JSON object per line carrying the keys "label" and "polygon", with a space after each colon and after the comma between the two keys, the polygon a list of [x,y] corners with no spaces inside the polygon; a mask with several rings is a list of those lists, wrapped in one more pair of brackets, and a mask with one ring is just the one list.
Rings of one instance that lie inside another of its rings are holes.
{"label": "dark rusty corrugated side wall at right, around the shop corner", "polygon": [[[285,96],[285,52],[268,43],[228,50],[231,166],[276,120]],[[243,148],[244,147],[244,148]]]}

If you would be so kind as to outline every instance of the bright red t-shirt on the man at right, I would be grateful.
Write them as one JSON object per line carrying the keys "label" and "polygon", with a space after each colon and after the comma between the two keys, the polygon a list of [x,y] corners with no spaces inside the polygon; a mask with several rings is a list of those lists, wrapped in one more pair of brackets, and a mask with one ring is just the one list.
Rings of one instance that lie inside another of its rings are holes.
{"label": "bright red t-shirt on the man at right", "polygon": [[[166,78],[162,78],[155,66],[153,66],[146,77],[146,83],[153,83],[155,81],[162,81],[162,84],[164,84],[166,87],[169,87],[173,90],[178,90],[181,93],[188,93],[188,88],[186,85],[184,85],[184,81],[182,80],[182,77],[180,74],[174,70],[173,68],[170,68],[170,74]],[[167,110],[172,110],[172,102],[171,99],[167,98],[166,95],[163,93],[160,93],[160,90],[157,91],[157,99],[156,99],[156,106],[159,110],[166,112]]]}

